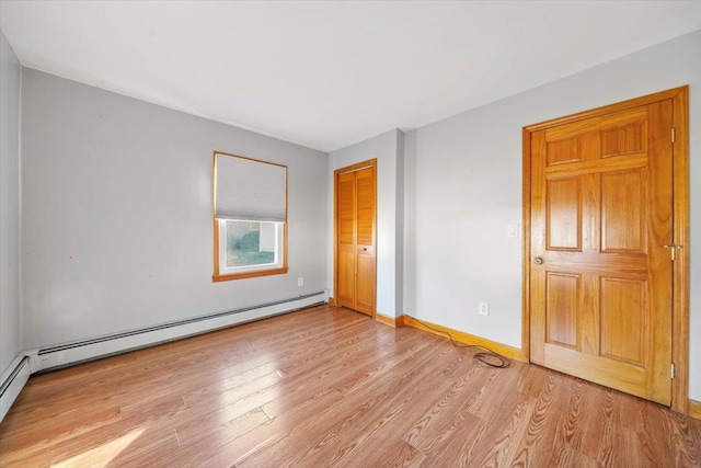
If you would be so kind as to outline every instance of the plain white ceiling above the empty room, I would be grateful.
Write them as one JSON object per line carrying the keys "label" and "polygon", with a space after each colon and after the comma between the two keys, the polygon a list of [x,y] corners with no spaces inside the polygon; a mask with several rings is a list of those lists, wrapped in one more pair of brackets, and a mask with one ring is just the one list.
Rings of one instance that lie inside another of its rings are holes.
{"label": "plain white ceiling above the empty room", "polygon": [[701,1],[2,0],[0,25],[26,67],[331,151],[701,28]]}

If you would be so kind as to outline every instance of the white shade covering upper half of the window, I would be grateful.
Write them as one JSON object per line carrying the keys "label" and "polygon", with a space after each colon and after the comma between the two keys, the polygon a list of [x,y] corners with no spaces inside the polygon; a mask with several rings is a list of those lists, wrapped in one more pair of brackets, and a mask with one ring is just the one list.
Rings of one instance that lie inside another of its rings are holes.
{"label": "white shade covering upper half of the window", "polygon": [[219,219],[284,222],[287,168],[217,153],[215,216]]}

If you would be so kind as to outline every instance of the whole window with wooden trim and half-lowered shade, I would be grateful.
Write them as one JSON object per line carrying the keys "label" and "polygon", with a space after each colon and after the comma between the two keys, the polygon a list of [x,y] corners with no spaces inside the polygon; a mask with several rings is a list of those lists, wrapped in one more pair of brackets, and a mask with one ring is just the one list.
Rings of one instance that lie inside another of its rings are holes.
{"label": "whole window with wooden trim and half-lowered shade", "polygon": [[287,167],[215,152],[215,282],[287,273]]}

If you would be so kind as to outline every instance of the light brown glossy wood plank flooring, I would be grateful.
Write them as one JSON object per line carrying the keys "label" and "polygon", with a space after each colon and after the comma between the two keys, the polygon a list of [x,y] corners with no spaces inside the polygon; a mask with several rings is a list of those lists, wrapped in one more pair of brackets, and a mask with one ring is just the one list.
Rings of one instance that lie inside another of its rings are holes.
{"label": "light brown glossy wood plank flooring", "polygon": [[700,467],[701,421],[321,306],[34,376],[2,467]]}

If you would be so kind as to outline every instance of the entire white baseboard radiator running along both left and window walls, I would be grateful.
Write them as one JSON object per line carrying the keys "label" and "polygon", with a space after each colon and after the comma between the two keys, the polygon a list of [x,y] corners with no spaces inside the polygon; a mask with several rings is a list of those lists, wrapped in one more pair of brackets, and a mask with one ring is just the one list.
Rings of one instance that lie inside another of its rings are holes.
{"label": "entire white baseboard radiator running along both left and window walls", "polygon": [[329,292],[311,293],[289,299],[176,320],[104,336],[21,352],[3,375],[0,392],[0,421],[4,418],[32,374],[55,370],[102,357],[181,340],[227,327],[291,312],[329,301]]}

